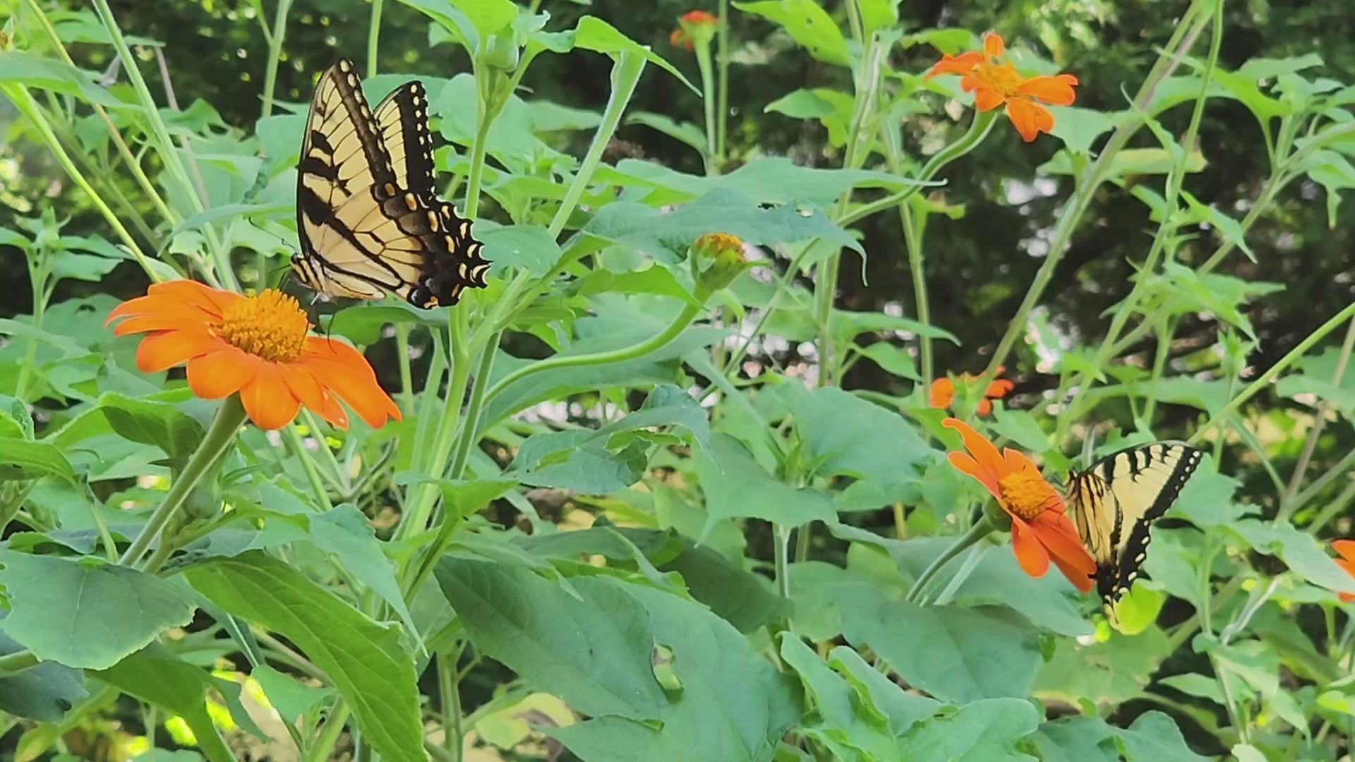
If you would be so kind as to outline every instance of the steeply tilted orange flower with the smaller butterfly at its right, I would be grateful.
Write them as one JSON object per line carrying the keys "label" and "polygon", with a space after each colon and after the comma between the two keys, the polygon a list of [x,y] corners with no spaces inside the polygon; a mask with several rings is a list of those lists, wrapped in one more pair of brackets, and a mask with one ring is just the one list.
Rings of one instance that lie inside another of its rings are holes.
{"label": "steeply tilted orange flower with the smaller butterfly at its right", "polygon": [[1030,576],[1045,576],[1049,561],[1077,590],[1092,588],[1096,561],[1064,511],[1064,499],[1023,453],[1011,447],[997,447],[962,420],[947,418],[947,428],[959,431],[967,453],[950,453],[950,465],[973,476],[997,498],[997,504],[1012,518],[1012,552]]}

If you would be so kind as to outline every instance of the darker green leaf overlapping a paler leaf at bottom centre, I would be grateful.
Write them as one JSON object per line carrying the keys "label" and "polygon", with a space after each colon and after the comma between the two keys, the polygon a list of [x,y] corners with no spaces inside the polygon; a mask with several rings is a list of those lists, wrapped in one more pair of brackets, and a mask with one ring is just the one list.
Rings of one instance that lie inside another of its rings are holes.
{"label": "darker green leaf overlapping a paler leaf at bottom centre", "polygon": [[606,578],[573,598],[522,567],[443,557],[434,574],[476,648],[584,715],[657,719],[668,704],[644,606]]}

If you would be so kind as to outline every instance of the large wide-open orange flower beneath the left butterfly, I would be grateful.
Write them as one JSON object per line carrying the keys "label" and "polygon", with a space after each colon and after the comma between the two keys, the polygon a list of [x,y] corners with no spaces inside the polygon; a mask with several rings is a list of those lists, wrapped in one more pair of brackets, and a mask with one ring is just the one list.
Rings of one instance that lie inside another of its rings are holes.
{"label": "large wide-open orange flower beneath the left butterfly", "polygon": [[137,367],[154,373],[187,362],[194,395],[215,400],[238,392],[259,428],[282,428],[302,404],[347,428],[340,399],[373,427],[400,420],[367,359],[337,339],[308,336],[306,313],[280,292],[244,297],[171,281],[119,304],[104,324],[121,317],[114,335],[149,334],[137,347]]}

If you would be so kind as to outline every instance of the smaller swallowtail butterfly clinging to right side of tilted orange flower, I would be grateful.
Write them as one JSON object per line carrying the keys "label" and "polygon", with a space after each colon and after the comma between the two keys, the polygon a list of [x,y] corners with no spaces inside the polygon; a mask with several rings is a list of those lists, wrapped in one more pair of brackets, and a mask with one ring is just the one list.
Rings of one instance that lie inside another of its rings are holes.
{"label": "smaller swallowtail butterfly clinging to right side of tilted orange flower", "polygon": [[1096,561],[1096,591],[1111,620],[1144,565],[1148,530],[1180,495],[1202,456],[1184,442],[1150,442],[1111,453],[1070,476],[1073,522]]}

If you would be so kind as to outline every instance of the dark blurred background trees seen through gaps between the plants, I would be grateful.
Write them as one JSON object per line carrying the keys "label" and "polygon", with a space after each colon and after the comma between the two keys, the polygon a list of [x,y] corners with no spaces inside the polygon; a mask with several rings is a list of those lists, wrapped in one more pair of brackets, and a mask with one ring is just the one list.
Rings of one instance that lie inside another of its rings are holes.
{"label": "dark blurred background trees seen through gaps between the plants", "polygon": [[[591,14],[614,23],[622,33],[672,60],[695,79],[695,61],[686,52],[668,45],[675,19],[691,8],[691,0],[593,0],[591,4],[549,1],[542,9],[553,16],[551,28],[568,28]],[[79,3],[45,3],[72,11]],[[835,16],[843,16],[840,3],[825,3]],[[904,3],[900,8],[905,28],[958,26],[1003,33],[1008,39],[1042,47],[1064,71],[1080,79],[1079,106],[1119,108],[1126,88],[1137,87],[1156,47],[1171,34],[1173,19],[1186,3],[1131,0],[1118,3],[1057,3],[999,0],[938,3]],[[271,23],[272,3],[183,1],[140,3],[123,0],[112,4],[125,31],[159,41],[164,66],[172,72],[173,94],[183,108],[203,100],[220,114],[220,129],[232,134],[249,134],[260,117],[260,80],[264,75],[267,45],[264,24]],[[713,9],[713,8],[707,8]],[[316,72],[329,65],[340,53],[359,60],[366,50],[370,3],[348,0],[298,0],[293,3],[278,72],[276,94],[280,100],[302,107],[308,100]],[[427,18],[398,3],[386,3],[382,11],[382,73],[453,76],[467,71],[465,53],[450,42],[430,46]],[[1355,79],[1355,49],[1348,39],[1355,27],[1348,5],[1341,0],[1267,1],[1228,4],[1228,27],[1224,33],[1221,62],[1233,69],[1248,58],[1286,57],[1316,53],[1321,56],[1325,75],[1339,81]],[[801,164],[836,167],[839,152],[816,121],[793,119],[767,113],[764,107],[802,87],[850,88],[843,69],[813,61],[797,52],[782,33],[763,19],[734,12],[730,19],[737,65],[730,75],[730,155],[786,155]],[[844,22],[843,22],[844,23]],[[91,30],[93,30],[91,24]],[[104,45],[76,45],[72,54],[77,64],[93,71],[108,71],[111,49]],[[165,83],[156,53],[142,47],[152,65],[145,66],[153,92],[164,92]],[[923,71],[935,61],[930,46],[896,47],[897,69]],[[603,56],[572,56],[560,65],[533,66],[524,88],[534,99],[553,100],[580,108],[600,108],[607,95],[610,61]],[[467,108],[473,107],[467,104]],[[646,76],[633,102],[634,110],[654,111],[686,121],[699,121],[701,103],[671,77]],[[70,218],[68,235],[87,235],[103,228],[98,216],[85,206],[79,193],[62,193],[66,179],[50,155],[31,141],[24,141],[22,122],[9,104],[0,104],[4,119],[0,156],[16,160],[16,171],[7,172],[0,194],[0,228],[15,225],[15,217],[53,206],[58,218]],[[1188,111],[1167,113],[1164,126],[1182,132]],[[967,117],[966,117],[967,119]],[[1180,121],[1180,123],[1175,123]],[[944,136],[963,123],[917,119],[905,123],[905,138],[916,146],[939,146]],[[585,141],[587,133],[561,133],[560,149],[581,151],[568,141]],[[1130,148],[1153,148],[1152,136],[1142,132]],[[1047,161],[1056,141],[1022,145],[1011,130],[999,130],[978,151],[953,165],[947,187],[938,198],[954,207],[954,218],[939,218],[928,229],[928,290],[932,296],[932,321],[958,332],[963,347],[938,344],[938,373],[978,370],[981,357],[1001,335],[1007,320],[1024,297],[1024,289],[1039,267],[1042,232],[1053,225],[1058,206],[1068,193],[1068,178],[1037,178],[1037,167]],[[1184,190],[1202,203],[1229,213],[1245,212],[1248,199],[1267,178],[1266,146],[1256,122],[1237,102],[1217,99],[1206,111],[1201,129],[1206,164],[1186,179]],[[618,156],[640,156],[687,172],[701,172],[699,157],[680,142],[642,125],[629,125],[619,133]],[[915,151],[915,155],[919,153]],[[982,178],[982,180],[980,180]],[[996,182],[995,178],[1003,178]],[[127,180],[127,195],[138,194]],[[482,214],[493,216],[492,207]],[[1133,262],[1142,259],[1156,222],[1148,209],[1131,199],[1126,188],[1110,187],[1093,202],[1087,220],[1075,235],[1069,254],[1061,262],[1049,293],[1049,319],[1064,332],[1095,344],[1106,321],[1102,313],[1118,302],[1131,286]],[[1276,212],[1257,222],[1249,236],[1256,263],[1240,254],[1230,256],[1220,273],[1248,281],[1272,281],[1286,285],[1268,296],[1262,306],[1248,315],[1259,339],[1252,357],[1256,370],[1263,370],[1293,344],[1321,324],[1324,316],[1337,312],[1352,298],[1355,256],[1351,255],[1351,228],[1355,217],[1339,214],[1328,225],[1325,191],[1312,182],[1287,187],[1276,202]],[[847,260],[841,277],[840,305],[848,309],[881,309],[885,302],[911,304],[912,285],[897,218],[878,214],[867,220],[862,232],[870,259],[864,268]],[[1177,258],[1198,264],[1217,241],[1183,241]],[[4,248],[0,248],[3,252]],[[19,256],[15,252],[9,258]],[[283,262],[279,259],[279,267]],[[31,309],[27,304],[26,274],[7,268],[0,275],[7,297],[0,315],[11,316]],[[66,281],[64,289],[104,290],[123,297],[144,286],[136,266],[126,263],[103,285]],[[72,296],[58,293],[57,298]],[[911,312],[911,309],[908,309]],[[1214,327],[1199,321],[1180,325],[1173,338],[1171,357],[1186,362],[1203,347],[1214,344]],[[794,351],[793,348],[790,351]],[[1154,340],[1146,338],[1134,354],[1150,363]],[[787,359],[787,358],[782,358]],[[1011,367],[1016,399],[1020,405],[1034,401],[1030,395],[1057,385],[1057,380],[1038,372],[1033,357]],[[847,380],[848,386],[879,388],[896,380],[873,363],[860,363]],[[1183,415],[1190,415],[1183,411]],[[1164,434],[1164,433],[1159,433]],[[1350,442],[1343,445],[1351,446]]]}

